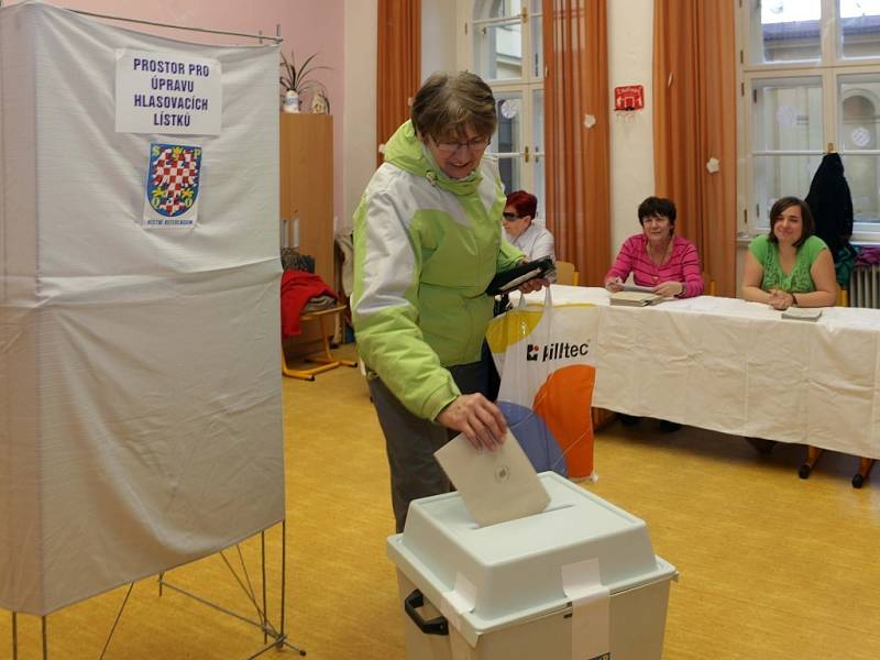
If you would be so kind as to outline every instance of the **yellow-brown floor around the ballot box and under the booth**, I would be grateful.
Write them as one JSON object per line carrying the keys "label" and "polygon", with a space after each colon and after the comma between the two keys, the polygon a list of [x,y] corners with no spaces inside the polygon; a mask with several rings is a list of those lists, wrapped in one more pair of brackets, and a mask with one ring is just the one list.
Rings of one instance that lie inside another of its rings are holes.
{"label": "yellow-brown floor around the ballot box and under the booth", "polygon": [[[403,660],[402,606],[385,557],[394,526],[387,466],[365,384],[340,367],[283,387],[290,641],[314,659]],[[801,447],[763,457],[739,438],[686,428],[659,435],[651,420],[612,425],[595,453],[600,479],[586,487],[647,520],[654,551],[681,573],[666,660],[880,658],[880,485],[850,487],[856,459],[826,454],[802,481]],[[875,476],[880,482],[880,469]],[[278,538],[271,530],[273,608]],[[245,543],[252,566],[257,551]],[[253,610],[217,557],[170,576]],[[251,578],[258,583],[253,569]],[[98,658],[123,596],[116,590],[51,615],[50,658]],[[20,617],[19,628],[19,659],[41,658],[38,619]],[[262,641],[204,605],[160,598],[155,580],[145,580],[105,657],[243,659]],[[0,659],[10,650],[10,615],[0,613]],[[277,657],[295,656],[262,656]]]}

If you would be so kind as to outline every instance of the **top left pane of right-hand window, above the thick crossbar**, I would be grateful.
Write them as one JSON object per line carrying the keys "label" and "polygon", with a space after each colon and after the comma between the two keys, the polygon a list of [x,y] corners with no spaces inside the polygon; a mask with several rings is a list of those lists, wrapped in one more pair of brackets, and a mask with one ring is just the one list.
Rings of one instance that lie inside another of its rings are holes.
{"label": "top left pane of right-hand window, above the thick crossbar", "polygon": [[822,0],[751,0],[752,59],[816,61],[822,56]]}

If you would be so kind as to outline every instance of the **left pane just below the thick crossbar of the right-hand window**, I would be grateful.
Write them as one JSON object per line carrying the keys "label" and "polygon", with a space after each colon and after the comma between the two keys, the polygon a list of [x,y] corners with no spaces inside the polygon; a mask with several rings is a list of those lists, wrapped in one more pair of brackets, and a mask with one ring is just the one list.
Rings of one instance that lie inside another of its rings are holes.
{"label": "left pane just below the thick crossbar of the right-hand window", "polygon": [[755,80],[755,151],[822,150],[820,78]]}

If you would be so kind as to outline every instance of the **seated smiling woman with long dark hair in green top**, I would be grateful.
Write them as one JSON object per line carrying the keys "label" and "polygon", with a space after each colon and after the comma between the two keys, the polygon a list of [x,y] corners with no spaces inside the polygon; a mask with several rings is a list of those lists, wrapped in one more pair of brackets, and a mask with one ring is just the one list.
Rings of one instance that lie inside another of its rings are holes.
{"label": "seated smiling woman with long dark hair in green top", "polygon": [[773,309],[831,307],[837,302],[834,261],[816,235],[806,202],[783,197],[770,209],[770,231],[749,243],[743,297]]}

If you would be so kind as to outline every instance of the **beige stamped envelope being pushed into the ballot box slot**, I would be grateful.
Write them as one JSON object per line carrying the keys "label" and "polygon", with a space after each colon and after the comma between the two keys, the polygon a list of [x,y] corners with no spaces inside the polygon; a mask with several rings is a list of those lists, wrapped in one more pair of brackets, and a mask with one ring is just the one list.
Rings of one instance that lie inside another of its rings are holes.
{"label": "beige stamped envelope being pushed into the ballot box slot", "polygon": [[496,451],[476,450],[459,435],[433,455],[481,527],[538,514],[550,503],[509,429]]}

